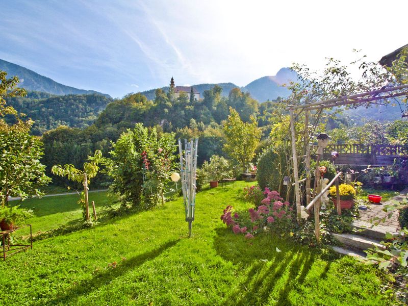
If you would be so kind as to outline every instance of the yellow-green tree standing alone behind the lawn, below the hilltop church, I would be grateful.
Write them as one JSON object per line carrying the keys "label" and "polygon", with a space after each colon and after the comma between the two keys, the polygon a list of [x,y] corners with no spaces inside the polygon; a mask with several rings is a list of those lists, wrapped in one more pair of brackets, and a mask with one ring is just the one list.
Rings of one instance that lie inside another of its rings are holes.
{"label": "yellow-green tree standing alone behind the lawn, below the hilltop church", "polygon": [[250,116],[249,122],[243,122],[238,112],[230,107],[230,115],[224,122],[223,130],[226,137],[224,150],[245,171],[261,139],[262,133],[257,121],[253,116]]}

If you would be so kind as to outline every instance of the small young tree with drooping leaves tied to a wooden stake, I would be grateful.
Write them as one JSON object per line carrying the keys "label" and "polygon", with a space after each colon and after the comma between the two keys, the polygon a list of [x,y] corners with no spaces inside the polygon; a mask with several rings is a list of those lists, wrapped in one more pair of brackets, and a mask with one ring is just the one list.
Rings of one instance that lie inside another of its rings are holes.
{"label": "small young tree with drooping leaves tied to a wooden stake", "polygon": [[96,150],[93,157],[88,156],[88,161],[84,163],[84,170],[80,170],[74,167],[74,165],[55,165],[51,171],[59,176],[66,176],[68,180],[81,183],[84,186],[84,191],[81,194],[81,198],[78,201],[82,205],[84,210],[84,218],[86,221],[89,221],[89,203],[88,203],[88,185],[90,184],[89,179],[93,179],[99,171],[98,164],[102,160],[102,152]]}

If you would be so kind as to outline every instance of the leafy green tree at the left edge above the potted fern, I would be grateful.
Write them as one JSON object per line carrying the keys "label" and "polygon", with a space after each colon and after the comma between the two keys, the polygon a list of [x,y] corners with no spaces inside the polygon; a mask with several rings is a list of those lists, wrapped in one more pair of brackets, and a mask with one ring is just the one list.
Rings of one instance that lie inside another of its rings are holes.
{"label": "leafy green tree at the left edge above the potted fern", "polygon": [[[0,196],[2,206],[8,206],[8,197],[41,196],[40,187],[50,179],[44,173],[45,166],[40,163],[43,155],[42,143],[29,134],[32,120],[22,120],[12,107],[6,105],[6,97],[25,95],[25,90],[17,88],[18,78],[6,78],[7,73],[0,71]],[[6,115],[14,117],[14,123],[8,124]]]}

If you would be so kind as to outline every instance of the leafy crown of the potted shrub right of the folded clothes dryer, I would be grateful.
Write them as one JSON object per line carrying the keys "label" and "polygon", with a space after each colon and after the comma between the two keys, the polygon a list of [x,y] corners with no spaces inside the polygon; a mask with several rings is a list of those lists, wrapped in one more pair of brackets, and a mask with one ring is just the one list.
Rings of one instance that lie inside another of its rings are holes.
{"label": "leafy crown of the potted shrub right of the folded clothes dryer", "polygon": [[201,174],[208,181],[221,181],[233,176],[230,163],[222,156],[217,155],[213,155],[210,162],[205,161],[198,174]]}

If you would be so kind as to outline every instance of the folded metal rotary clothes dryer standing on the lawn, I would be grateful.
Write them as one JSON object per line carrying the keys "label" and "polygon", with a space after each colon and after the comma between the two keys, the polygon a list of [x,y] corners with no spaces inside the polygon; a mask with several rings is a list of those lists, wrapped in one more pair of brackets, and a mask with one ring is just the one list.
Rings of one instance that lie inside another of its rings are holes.
{"label": "folded metal rotary clothes dryer standing on the lawn", "polygon": [[198,139],[190,140],[190,142],[187,142],[187,139],[185,139],[183,158],[182,142],[179,139],[180,173],[182,179],[184,210],[186,213],[186,221],[188,222],[188,237],[191,237],[191,224],[194,221],[197,147]]}

